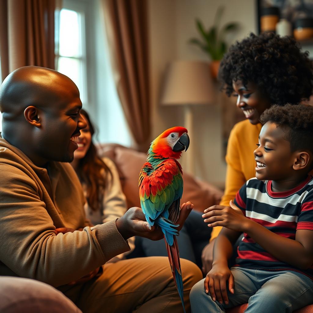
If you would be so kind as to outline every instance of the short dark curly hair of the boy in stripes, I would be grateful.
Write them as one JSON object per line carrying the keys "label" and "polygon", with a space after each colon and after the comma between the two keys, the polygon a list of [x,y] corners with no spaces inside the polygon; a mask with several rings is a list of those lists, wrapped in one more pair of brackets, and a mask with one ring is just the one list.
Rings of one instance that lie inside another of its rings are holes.
{"label": "short dark curly hair of the boy in stripes", "polygon": [[284,106],[272,105],[261,114],[260,122],[263,125],[272,122],[282,126],[286,132],[285,139],[290,142],[291,152],[306,150],[313,154],[313,106],[290,103]]}

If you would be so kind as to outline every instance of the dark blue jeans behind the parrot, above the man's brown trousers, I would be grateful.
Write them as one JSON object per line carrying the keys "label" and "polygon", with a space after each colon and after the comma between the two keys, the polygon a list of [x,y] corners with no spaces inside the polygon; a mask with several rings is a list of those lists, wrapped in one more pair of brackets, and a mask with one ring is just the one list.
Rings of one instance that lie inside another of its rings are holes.
{"label": "dark blue jeans behind the parrot, above the man's brown trousers", "polygon": [[[177,236],[180,258],[196,263],[200,268],[202,267],[201,253],[208,244],[212,231],[212,228],[203,222],[202,214],[191,211]],[[136,237],[135,250],[127,258],[143,256],[167,256],[164,240],[151,241]]]}

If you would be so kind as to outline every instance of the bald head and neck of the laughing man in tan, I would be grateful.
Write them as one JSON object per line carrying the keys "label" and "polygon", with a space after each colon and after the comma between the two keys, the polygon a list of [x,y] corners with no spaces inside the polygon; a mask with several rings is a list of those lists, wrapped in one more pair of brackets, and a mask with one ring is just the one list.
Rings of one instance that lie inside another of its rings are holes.
{"label": "bald head and neck of the laughing man in tan", "polygon": [[80,116],[79,91],[67,76],[52,69],[25,66],[0,88],[1,136],[36,165],[70,162],[73,138],[86,126]]}

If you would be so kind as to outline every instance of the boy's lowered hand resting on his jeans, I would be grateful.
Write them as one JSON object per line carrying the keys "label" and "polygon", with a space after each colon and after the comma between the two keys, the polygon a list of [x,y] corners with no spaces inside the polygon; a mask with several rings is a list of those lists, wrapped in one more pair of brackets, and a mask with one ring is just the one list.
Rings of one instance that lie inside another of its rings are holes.
{"label": "boy's lowered hand resting on his jeans", "polygon": [[234,293],[235,280],[227,262],[225,264],[213,264],[204,280],[205,292],[210,292],[213,301],[217,300],[220,304],[223,302],[228,304],[227,288],[232,294]]}

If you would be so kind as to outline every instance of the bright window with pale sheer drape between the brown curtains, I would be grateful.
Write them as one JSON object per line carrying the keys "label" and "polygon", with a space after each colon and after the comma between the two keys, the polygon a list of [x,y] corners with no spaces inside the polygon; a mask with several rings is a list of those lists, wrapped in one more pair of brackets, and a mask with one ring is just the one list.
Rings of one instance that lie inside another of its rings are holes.
{"label": "bright window with pale sheer drape between the brown curtains", "polygon": [[63,0],[55,16],[56,69],[77,85],[100,142],[131,145],[117,95],[98,0]]}

